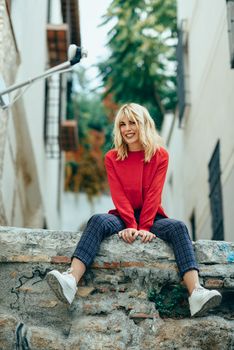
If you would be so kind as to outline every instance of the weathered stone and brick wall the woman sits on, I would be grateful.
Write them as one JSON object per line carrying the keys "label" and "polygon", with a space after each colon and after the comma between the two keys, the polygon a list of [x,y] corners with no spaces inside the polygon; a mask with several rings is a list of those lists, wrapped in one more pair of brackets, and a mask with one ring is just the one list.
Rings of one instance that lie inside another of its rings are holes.
{"label": "weathered stone and brick wall the woman sits on", "polygon": [[[53,268],[69,266],[79,237],[0,229],[1,350],[234,349],[234,243],[195,243],[201,283],[219,289],[223,302],[191,319],[187,297],[170,308],[173,288],[181,284],[172,250],[160,239],[132,245],[117,236],[107,239],[73,304],[62,304],[44,278]],[[166,305],[160,309],[157,303],[156,310],[148,296],[157,301],[163,291]]]}

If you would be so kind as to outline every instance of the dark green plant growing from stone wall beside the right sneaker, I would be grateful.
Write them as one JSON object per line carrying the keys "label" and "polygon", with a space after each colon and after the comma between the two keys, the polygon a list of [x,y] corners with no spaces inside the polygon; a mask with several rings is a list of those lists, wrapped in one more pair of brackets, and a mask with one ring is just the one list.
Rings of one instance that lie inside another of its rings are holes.
{"label": "dark green plant growing from stone wall beside the right sneaker", "polygon": [[183,318],[190,315],[187,300],[188,292],[181,285],[164,286],[160,293],[150,290],[148,298],[155,303],[155,307],[162,318]]}

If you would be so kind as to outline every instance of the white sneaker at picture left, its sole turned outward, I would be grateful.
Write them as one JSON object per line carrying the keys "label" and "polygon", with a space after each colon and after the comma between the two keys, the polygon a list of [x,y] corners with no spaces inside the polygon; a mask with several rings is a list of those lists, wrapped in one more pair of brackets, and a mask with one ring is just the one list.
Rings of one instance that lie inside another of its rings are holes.
{"label": "white sneaker at picture left, its sole turned outward", "polygon": [[76,279],[71,274],[71,269],[63,273],[52,270],[47,273],[46,281],[59,300],[66,304],[73,302],[77,286]]}

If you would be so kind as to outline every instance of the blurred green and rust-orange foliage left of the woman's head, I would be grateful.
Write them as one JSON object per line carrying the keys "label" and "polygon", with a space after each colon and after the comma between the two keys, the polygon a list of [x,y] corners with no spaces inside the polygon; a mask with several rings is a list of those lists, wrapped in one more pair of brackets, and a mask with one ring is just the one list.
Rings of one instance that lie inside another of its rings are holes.
{"label": "blurred green and rust-orange foliage left of the woman's head", "polygon": [[[106,174],[103,153],[110,146],[110,123],[102,102],[101,93],[92,91],[85,70],[81,66],[74,73],[74,91],[68,102],[68,110],[78,123],[79,151],[74,160],[67,161],[65,188],[73,192],[85,192],[90,201],[106,190]],[[93,130],[105,133],[107,142],[92,139]],[[99,142],[99,143],[98,143]]]}

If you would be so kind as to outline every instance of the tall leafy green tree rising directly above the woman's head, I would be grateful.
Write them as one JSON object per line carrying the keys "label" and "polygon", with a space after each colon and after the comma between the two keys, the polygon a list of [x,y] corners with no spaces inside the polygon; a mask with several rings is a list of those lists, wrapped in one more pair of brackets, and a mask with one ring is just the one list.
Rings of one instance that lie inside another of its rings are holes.
{"label": "tall leafy green tree rising directly above the woman's head", "polygon": [[176,0],[113,0],[103,24],[111,54],[99,69],[117,103],[145,105],[161,126],[175,108]]}

